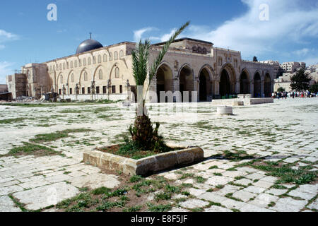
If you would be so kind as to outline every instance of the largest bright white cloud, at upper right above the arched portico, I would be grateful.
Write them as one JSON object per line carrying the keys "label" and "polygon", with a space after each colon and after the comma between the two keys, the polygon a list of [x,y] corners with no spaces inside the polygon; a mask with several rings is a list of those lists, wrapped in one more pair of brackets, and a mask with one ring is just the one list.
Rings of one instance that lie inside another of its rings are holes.
{"label": "largest bright white cloud, at upper right above the arched portico", "polygon": [[[318,37],[318,8],[305,11],[298,1],[289,0],[242,2],[249,8],[243,16],[225,21],[216,30],[192,25],[189,37],[239,50],[245,56],[272,52],[286,42],[299,44],[304,37]],[[259,20],[261,4],[269,5],[269,20]]]}

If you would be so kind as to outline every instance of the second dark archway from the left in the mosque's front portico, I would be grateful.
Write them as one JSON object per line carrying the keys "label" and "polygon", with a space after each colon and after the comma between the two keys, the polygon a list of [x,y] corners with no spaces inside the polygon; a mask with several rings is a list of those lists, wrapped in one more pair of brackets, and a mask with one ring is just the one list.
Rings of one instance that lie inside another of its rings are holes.
{"label": "second dark archway from the left in the mosque's front portico", "polygon": [[189,92],[189,101],[192,100],[192,91],[194,89],[193,72],[189,66],[184,66],[179,73],[179,91],[182,95],[182,102],[184,102],[184,91]]}

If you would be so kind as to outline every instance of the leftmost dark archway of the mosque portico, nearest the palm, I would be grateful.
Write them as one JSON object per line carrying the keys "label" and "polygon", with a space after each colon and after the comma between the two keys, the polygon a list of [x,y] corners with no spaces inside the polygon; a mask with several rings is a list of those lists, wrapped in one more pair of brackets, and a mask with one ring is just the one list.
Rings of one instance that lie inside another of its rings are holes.
{"label": "leftmost dark archway of the mosque portico, nearest the palm", "polygon": [[160,92],[162,91],[172,91],[172,71],[169,66],[163,64],[159,67],[156,75],[157,79],[157,97],[158,102],[160,102]]}

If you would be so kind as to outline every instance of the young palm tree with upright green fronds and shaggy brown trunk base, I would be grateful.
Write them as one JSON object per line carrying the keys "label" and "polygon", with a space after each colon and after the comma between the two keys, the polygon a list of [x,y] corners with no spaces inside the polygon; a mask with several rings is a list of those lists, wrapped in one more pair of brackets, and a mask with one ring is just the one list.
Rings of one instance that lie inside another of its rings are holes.
{"label": "young palm tree with upright green fronds and shaggy brown trunk base", "polygon": [[[139,95],[142,95],[142,98],[139,97],[139,100],[141,101],[138,103],[138,107],[136,109],[136,119],[134,121],[134,126],[131,125],[129,127],[129,132],[131,133],[132,140],[141,150],[160,150],[161,148],[165,147],[163,137],[158,135],[160,124],[156,123],[155,129],[153,129],[151,119],[145,112],[146,95],[148,93],[150,83],[153,80],[154,76],[156,76],[158,67],[163,61],[163,57],[165,57],[170,44],[172,44],[177,36],[185,28],[187,28],[189,23],[190,22],[188,21],[187,23],[182,25],[182,27],[176,30],[175,33],[170,37],[170,39],[165,42],[163,48],[153,62],[151,69],[148,69],[149,50],[151,48],[151,43],[149,42],[149,40],[146,40],[144,43],[142,43],[140,40],[139,43],[136,44],[136,49],[132,52],[133,72],[136,85],[142,85],[144,87],[148,75],[148,86],[146,88],[146,92],[139,93]],[[137,112],[139,112],[139,109],[141,109],[142,111],[141,115],[137,114]]]}

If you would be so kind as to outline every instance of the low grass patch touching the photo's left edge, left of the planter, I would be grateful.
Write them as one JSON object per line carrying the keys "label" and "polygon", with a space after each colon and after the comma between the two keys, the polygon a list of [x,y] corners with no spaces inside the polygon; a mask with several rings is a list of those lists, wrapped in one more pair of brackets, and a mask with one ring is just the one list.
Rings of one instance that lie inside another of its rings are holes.
{"label": "low grass patch touching the photo's left edge, left of the planter", "polygon": [[6,155],[0,155],[0,157],[6,157],[6,156],[20,156],[20,155],[35,155],[35,156],[47,156],[47,155],[61,155],[61,152],[57,152],[56,150],[53,150],[52,148],[47,148],[42,145],[37,145],[33,143],[27,143],[23,142],[22,146],[12,148],[8,154]]}

